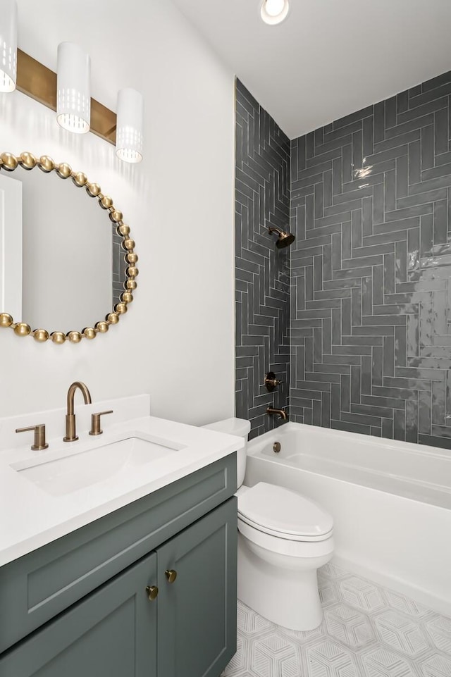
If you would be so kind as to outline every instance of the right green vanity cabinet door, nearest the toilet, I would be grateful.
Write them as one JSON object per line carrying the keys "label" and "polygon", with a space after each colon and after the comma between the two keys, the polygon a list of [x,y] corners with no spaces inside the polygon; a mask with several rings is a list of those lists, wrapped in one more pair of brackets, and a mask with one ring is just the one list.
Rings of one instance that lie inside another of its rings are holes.
{"label": "right green vanity cabinet door, nearest the toilet", "polygon": [[237,499],[156,552],[158,676],[218,677],[236,651]]}

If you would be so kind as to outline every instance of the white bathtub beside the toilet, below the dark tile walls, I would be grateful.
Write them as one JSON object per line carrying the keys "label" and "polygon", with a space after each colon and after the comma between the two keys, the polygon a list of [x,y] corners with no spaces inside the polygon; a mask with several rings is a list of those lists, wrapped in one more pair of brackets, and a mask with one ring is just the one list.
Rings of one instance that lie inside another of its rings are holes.
{"label": "white bathtub beside the toilet, below the dark tile walls", "polygon": [[288,423],[247,454],[245,484],[328,509],[336,564],[451,616],[451,452]]}

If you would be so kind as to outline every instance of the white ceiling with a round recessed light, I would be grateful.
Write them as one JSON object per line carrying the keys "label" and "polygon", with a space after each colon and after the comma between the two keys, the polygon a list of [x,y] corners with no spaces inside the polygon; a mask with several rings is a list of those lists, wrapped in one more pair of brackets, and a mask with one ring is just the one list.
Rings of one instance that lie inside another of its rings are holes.
{"label": "white ceiling with a round recessed light", "polygon": [[173,0],[295,138],[451,70],[451,0]]}

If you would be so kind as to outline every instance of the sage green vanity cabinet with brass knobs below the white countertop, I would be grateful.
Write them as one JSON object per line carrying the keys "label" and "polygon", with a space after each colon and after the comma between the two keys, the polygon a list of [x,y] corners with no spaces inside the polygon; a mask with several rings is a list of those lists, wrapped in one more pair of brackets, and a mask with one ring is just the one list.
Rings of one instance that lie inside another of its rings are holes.
{"label": "sage green vanity cabinet with brass knobs below the white countertop", "polygon": [[0,676],[218,677],[236,650],[235,468],[231,454],[2,567]]}

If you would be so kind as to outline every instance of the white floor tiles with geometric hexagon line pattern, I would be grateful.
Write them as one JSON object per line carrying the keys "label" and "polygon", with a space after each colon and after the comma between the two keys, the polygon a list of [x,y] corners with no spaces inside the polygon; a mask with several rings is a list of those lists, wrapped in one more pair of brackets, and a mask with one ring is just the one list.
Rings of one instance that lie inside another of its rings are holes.
{"label": "white floor tiles with geometric hexagon line pattern", "polygon": [[324,619],[292,631],[237,603],[237,653],[223,677],[451,677],[451,619],[326,564]]}

